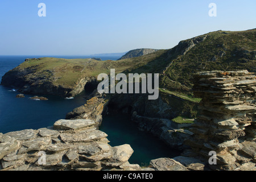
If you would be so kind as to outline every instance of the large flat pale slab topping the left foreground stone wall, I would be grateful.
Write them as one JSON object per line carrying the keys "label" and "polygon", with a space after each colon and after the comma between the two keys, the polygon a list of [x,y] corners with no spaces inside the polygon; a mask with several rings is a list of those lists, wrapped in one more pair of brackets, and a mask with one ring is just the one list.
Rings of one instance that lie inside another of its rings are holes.
{"label": "large flat pale slab topping the left foreground stone wall", "polygon": [[56,121],[53,126],[57,130],[81,130],[93,125],[95,125],[95,122],[90,119],[76,119],[76,120],[60,119]]}

